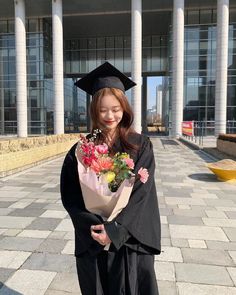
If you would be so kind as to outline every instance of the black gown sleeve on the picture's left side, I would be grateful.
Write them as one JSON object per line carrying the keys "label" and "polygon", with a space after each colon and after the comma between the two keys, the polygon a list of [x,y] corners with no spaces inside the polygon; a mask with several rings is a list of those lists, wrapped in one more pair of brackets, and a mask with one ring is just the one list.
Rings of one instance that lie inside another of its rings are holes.
{"label": "black gown sleeve on the picture's left side", "polygon": [[102,218],[86,210],[82,191],[79,183],[77,160],[74,155],[75,146],[65,157],[61,171],[61,200],[64,208],[69,213],[75,228],[75,255],[89,251],[99,252],[103,249],[97,241],[91,237],[90,226],[101,224]]}

